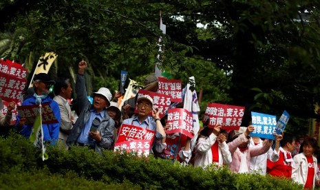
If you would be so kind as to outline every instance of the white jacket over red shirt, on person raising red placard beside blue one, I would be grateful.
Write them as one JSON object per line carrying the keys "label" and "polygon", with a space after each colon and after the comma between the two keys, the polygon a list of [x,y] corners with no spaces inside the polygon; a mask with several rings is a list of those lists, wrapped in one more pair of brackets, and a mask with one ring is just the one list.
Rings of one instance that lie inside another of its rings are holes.
{"label": "white jacket over red shirt, on person raising red placard beside blue one", "polygon": [[[195,163],[194,166],[206,167],[212,164],[212,151],[211,147],[217,140],[215,134],[211,134],[209,137],[198,139],[197,145],[195,145]],[[226,142],[219,142],[218,145],[219,162],[218,165],[221,167],[223,164],[228,165],[232,161],[231,153],[229,151]]]}

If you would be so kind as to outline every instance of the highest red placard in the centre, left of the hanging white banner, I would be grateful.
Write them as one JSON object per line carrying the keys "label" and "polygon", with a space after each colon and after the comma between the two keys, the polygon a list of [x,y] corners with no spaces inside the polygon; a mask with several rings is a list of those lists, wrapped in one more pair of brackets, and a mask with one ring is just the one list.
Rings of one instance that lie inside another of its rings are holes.
{"label": "highest red placard in the centre, left of the hanging white banner", "polygon": [[171,96],[171,102],[182,102],[182,81],[158,77],[158,93]]}

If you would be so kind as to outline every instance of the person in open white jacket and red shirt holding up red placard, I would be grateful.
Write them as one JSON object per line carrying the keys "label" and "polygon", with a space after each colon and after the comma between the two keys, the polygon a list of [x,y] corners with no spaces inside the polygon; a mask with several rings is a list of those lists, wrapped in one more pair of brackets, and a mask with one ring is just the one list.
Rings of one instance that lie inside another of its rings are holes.
{"label": "person in open white jacket and red shirt holding up red placard", "polygon": [[195,145],[194,166],[207,167],[214,165],[222,167],[231,163],[231,153],[226,145],[226,134],[220,133],[221,125],[213,128],[204,127]]}

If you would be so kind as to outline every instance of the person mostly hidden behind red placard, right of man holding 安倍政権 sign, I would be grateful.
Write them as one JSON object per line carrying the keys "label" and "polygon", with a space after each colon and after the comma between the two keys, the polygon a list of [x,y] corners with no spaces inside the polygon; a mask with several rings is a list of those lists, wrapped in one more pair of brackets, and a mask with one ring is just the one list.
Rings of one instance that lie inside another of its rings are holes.
{"label": "person mostly hidden behind red placard, right of man holding \u5b89\u500d\u653f\u6a29 sign", "polygon": [[[164,131],[169,129],[170,124],[167,123],[168,114],[160,120]],[[164,159],[177,160],[182,165],[187,165],[191,158],[191,138],[184,134],[174,133],[167,134],[161,140],[156,140],[155,147],[161,147],[162,151],[155,149],[156,156]]]}

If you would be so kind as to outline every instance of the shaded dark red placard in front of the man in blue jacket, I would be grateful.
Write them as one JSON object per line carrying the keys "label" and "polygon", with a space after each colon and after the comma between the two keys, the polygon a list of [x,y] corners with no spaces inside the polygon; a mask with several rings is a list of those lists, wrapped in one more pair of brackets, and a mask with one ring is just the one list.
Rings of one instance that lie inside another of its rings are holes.
{"label": "shaded dark red placard in front of the man in blue jacket", "polygon": [[[54,112],[52,112],[52,108],[50,107],[50,103],[43,103],[42,105],[42,124],[50,124],[50,123],[58,123],[56,120],[56,116],[54,116]],[[34,123],[36,119],[36,114],[38,114],[39,105],[21,105],[18,106],[18,112],[20,118],[26,118],[28,120],[27,123]]]}

